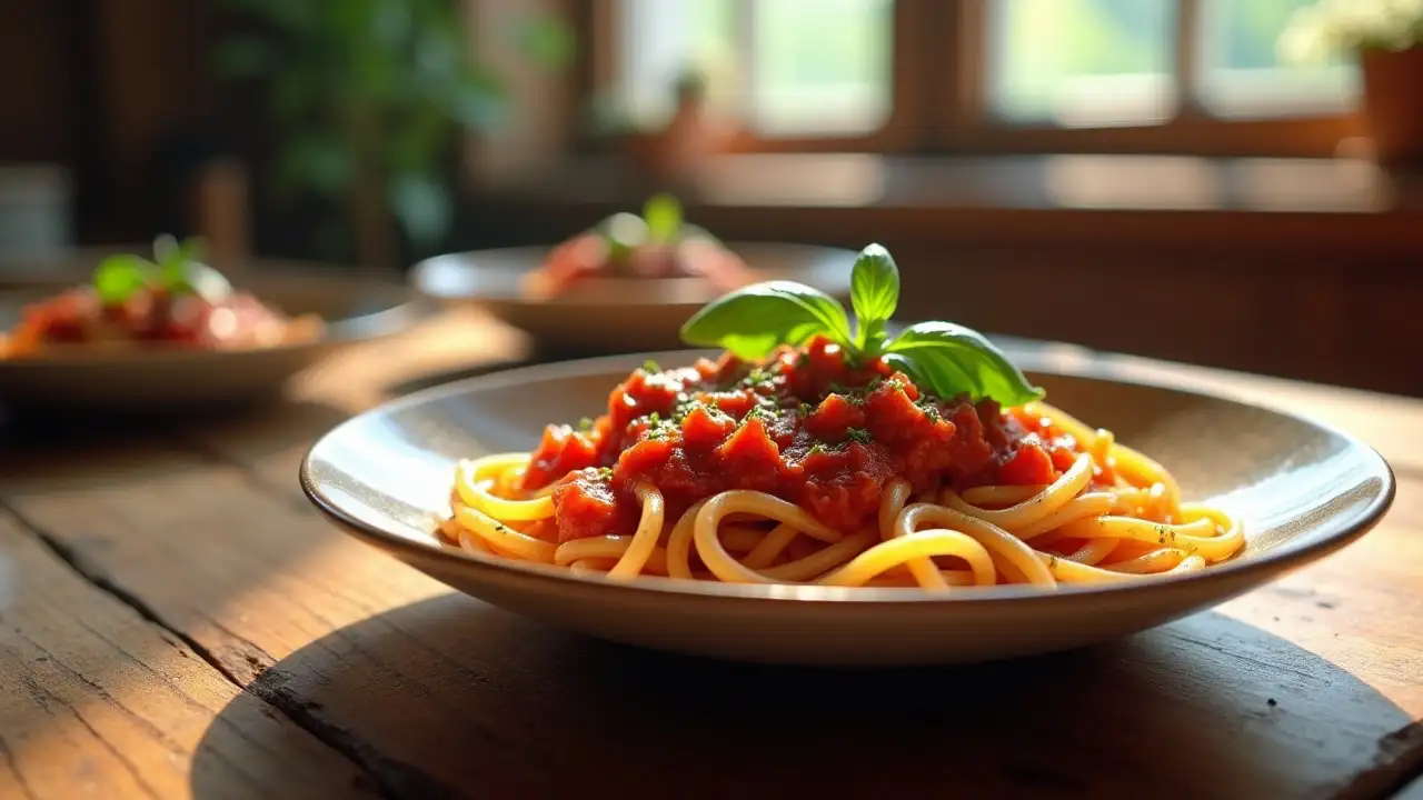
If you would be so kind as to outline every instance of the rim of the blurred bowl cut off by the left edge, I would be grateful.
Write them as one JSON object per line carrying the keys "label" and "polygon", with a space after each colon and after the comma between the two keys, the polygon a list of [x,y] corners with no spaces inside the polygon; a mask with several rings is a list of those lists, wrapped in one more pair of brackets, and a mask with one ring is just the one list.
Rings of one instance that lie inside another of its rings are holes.
{"label": "rim of the blurred bowl cut off by the left edge", "polygon": [[[283,270],[266,275],[255,272],[243,275],[243,279],[255,279],[255,283],[270,280],[273,283],[287,283],[290,286],[322,280],[340,280],[336,275],[324,275],[314,270]],[[313,339],[280,342],[277,344],[260,347],[235,347],[231,350],[203,350],[166,343],[152,343],[132,347],[91,347],[77,344],[73,347],[55,349],[38,357],[0,357],[0,370],[84,369],[114,364],[144,367],[148,364],[171,364],[174,362],[212,363],[222,359],[250,359],[260,357],[262,354],[277,356],[280,353],[306,352],[310,349],[351,344],[394,336],[414,327],[421,320],[433,316],[437,310],[434,302],[428,298],[420,296],[413,292],[410,286],[400,282],[374,279],[360,279],[360,282],[367,290],[379,292],[381,299],[388,300],[388,305],[383,309],[363,315],[343,316],[337,319],[322,317],[320,335]],[[64,282],[53,282],[54,286],[61,283]],[[346,282],[342,280],[342,283]],[[6,288],[0,289],[0,298],[38,295],[47,292],[48,288],[50,283],[26,288]],[[253,290],[253,295],[263,299],[263,292],[260,289],[262,288],[258,286]],[[266,293],[270,295],[272,292]]]}

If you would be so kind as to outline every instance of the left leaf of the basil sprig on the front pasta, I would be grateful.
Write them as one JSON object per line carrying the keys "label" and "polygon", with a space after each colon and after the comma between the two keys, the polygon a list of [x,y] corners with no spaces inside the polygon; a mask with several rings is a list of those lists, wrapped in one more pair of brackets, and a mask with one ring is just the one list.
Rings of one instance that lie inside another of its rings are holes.
{"label": "left leaf of the basil sprig on the front pasta", "polygon": [[748,360],[817,333],[848,347],[845,309],[830,295],[790,280],[754,283],[724,295],[682,326],[687,344],[723,347]]}

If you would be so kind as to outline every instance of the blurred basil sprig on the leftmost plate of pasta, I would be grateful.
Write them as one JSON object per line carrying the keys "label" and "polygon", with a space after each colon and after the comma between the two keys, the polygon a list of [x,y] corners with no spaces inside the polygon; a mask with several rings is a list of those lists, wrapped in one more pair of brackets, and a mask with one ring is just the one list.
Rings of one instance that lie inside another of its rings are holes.
{"label": "blurred basil sprig on the leftmost plate of pasta", "polygon": [[164,289],[169,295],[196,295],[218,302],[232,295],[232,283],[199,259],[201,243],[178,242],[164,233],[154,241],[154,260],[131,253],[105,258],[94,269],[91,282],[105,305],[120,305],[144,289]]}

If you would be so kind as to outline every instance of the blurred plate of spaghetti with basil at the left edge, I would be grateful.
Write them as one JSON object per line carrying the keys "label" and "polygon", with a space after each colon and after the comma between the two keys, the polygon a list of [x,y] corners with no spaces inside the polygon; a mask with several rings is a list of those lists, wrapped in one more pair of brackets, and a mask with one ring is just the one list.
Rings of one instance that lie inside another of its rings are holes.
{"label": "blurred plate of spaghetti with basil at the left edge", "polygon": [[420,316],[400,286],[310,269],[243,275],[159,236],[154,256],[112,252],[87,280],[0,292],[0,401],[112,407],[245,401],[334,349]]}

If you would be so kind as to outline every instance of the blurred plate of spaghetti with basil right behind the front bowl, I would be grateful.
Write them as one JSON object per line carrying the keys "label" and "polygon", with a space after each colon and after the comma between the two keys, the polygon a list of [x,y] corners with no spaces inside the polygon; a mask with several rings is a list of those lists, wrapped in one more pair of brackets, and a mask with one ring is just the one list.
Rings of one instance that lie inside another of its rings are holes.
{"label": "blurred plate of spaghetti with basil right behind the front bowl", "polygon": [[721,242],[682,219],[669,195],[615,214],[552,248],[505,248],[424,260],[410,280],[445,303],[478,303],[539,344],[579,353],[676,347],[703,305],[760,280],[850,293],[854,253],[810,245]]}

